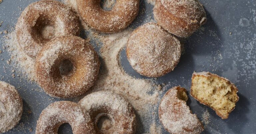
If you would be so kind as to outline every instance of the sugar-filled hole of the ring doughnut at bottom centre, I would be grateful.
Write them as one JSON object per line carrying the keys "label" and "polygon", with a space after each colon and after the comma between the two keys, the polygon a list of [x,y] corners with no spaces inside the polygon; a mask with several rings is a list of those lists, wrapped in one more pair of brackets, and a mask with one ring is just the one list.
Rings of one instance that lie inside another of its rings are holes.
{"label": "sugar-filled hole of the ring doughnut at bottom centre", "polygon": [[107,131],[112,127],[112,121],[109,117],[102,116],[99,118],[99,120],[97,122],[97,127],[102,132]]}

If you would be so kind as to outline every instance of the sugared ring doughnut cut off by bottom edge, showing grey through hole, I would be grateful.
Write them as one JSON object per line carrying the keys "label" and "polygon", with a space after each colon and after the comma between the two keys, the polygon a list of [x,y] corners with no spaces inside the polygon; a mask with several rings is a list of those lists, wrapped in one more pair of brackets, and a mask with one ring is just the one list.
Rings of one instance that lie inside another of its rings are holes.
{"label": "sugared ring doughnut cut off by bottom edge, showing grey through hole", "polygon": [[70,124],[73,134],[95,134],[90,115],[71,101],[58,101],[46,107],[37,121],[36,134],[58,134],[64,123]]}

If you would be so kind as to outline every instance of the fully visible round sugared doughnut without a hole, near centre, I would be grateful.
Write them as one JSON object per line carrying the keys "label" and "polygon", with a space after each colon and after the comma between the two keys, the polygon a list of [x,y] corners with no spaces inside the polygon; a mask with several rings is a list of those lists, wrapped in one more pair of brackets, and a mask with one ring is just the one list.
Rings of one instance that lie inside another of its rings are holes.
{"label": "fully visible round sugared doughnut without a hole, near centre", "polygon": [[181,56],[179,40],[156,23],[132,32],[126,44],[127,59],[144,76],[159,77],[174,69]]}

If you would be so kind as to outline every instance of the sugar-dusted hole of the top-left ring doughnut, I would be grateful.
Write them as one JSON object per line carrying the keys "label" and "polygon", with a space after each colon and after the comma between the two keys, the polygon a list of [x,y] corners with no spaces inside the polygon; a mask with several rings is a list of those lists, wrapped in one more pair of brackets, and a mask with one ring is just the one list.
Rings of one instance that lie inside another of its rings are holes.
{"label": "sugar-dusted hole of the top-left ring doughnut", "polygon": [[32,28],[37,41],[45,43],[55,37],[55,22],[48,17],[39,17]]}

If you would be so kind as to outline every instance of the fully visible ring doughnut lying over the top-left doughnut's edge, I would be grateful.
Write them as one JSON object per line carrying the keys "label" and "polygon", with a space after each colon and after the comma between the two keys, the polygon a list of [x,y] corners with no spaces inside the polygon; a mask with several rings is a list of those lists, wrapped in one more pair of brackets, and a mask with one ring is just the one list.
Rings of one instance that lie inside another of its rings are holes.
{"label": "fully visible ring doughnut lying over the top-left doughnut's edge", "polygon": [[[65,61],[73,67],[62,73],[61,65]],[[80,37],[68,35],[53,39],[38,53],[36,79],[50,96],[73,98],[93,85],[99,67],[99,57],[93,46]]]}

